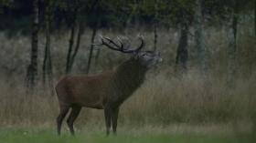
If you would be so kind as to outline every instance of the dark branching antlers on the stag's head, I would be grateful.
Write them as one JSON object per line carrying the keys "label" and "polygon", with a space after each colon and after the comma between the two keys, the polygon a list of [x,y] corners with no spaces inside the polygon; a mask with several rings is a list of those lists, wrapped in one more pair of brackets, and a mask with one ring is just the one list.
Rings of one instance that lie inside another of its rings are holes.
{"label": "dark branching antlers on the stag's head", "polygon": [[144,38],[143,38],[143,36],[139,36],[139,39],[141,40],[141,45],[137,48],[134,48],[134,49],[129,49],[129,47],[124,47],[123,41],[119,36],[117,37],[117,40],[118,40],[119,44],[114,42],[109,37],[101,36],[101,45],[107,46],[112,50],[120,51],[122,53],[134,53],[134,52],[137,53],[144,47]]}

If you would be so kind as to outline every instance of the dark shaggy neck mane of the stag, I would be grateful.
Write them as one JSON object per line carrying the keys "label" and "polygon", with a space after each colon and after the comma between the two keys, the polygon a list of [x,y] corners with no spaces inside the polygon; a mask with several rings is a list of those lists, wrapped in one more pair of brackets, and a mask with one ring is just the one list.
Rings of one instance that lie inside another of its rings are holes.
{"label": "dark shaggy neck mane of the stag", "polygon": [[138,59],[131,58],[125,61],[115,71],[113,75],[113,85],[118,90],[118,100],[123,102],[130,97],[138,87],[144,82],[146,67],[142,66]]}

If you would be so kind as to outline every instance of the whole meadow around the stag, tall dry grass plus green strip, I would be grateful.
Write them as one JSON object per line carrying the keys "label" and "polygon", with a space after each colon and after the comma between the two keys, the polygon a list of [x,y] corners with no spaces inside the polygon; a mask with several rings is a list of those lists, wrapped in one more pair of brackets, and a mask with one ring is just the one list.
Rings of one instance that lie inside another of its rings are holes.
{"label": "whole meadow around the stag, tall dry grass plus green strip", "polygon": [[[232,86],[227,84],[227,38],[223,29],[208,29],[208,75],[203,78],[195,66],[193,37],[189,39],[189,63],[185,77],[175,72],[177,31],[160,32],[159,50],[164,62],[152,69],[144,85],[124,102],[118,121],[118,135],[105,137],[102,110],[83,108],[75,123],[78,135],[73,138],[64,122],[63,135],[56,133],[59,105],[56,95],[41,83],[36,92],[27,93],[26,67],[29,61],[29,38],[1,34],[0,53],[0,143],[18,142],[252,142],[255,130],[255,37],[243,26],[238,41],[238,66]],[[91,30],[87,30],[91,34]],[[103,35],[122,35],[104,31]],[[144,33],[152,48],[152,33]],[[136,36],[136,31],[125,35]],[[72,74],[86,68],[91,35],[84,35]],[[218,37],[218,38],[216,38]],[[52,59],[54,83],[64,75],[68,35],[53,36]],[[43,40],[41,40],[43,41]],[[135,43],[136,44],[136,43]],[[160,45],[161,44],[161,45]],[[39,43],[43,53],[44,43]],[[42,58],[39,57],[39,66]],[[99,65],[91,74],[112,69],[127,56],[101,49]],[[41,71],[39,71],[39,74]],[[40,81],[41,77],[38,77]]]}

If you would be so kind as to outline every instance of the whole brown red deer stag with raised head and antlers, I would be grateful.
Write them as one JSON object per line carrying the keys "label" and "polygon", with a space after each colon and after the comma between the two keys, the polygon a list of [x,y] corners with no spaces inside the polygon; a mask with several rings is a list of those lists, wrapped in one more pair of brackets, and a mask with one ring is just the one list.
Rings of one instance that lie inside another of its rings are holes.
{"label": "whole brown red deer stag with raised head and antlers", "polygon": [[130,54],[131,58],[123,62],[114,71],[103,72],[95,76],[66,76],[56,86],[60,113],[57,117],[58,135],[63,118],[71,112],[67,120],[70,133],[74,135],[73,123],[80,114],[81,107],[104,109],[107,135],[112,131],[116,134],[119,107],[144,82],[144,76],[150,66],[158,63],[159,53],[142,51],[144,39],[140,36],[141,45],[138,48],[124,48],[123,42],[118,42],[101,36],[101,46]]}

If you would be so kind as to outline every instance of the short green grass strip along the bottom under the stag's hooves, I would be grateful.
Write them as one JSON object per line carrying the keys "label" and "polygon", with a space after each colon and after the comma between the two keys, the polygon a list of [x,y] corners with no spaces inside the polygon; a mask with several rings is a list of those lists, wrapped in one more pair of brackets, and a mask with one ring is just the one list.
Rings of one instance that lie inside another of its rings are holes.
{"label": "short green grass strip along the bottom under the stag's hooves", "polygon": [[0,143],[246,143],[248,136],[204,133],[131,133],[121,131],[106,137],[103,131],[79,131],[71,137],[67,131],[58,137],[54,130],[38,128],[2,128]]}

